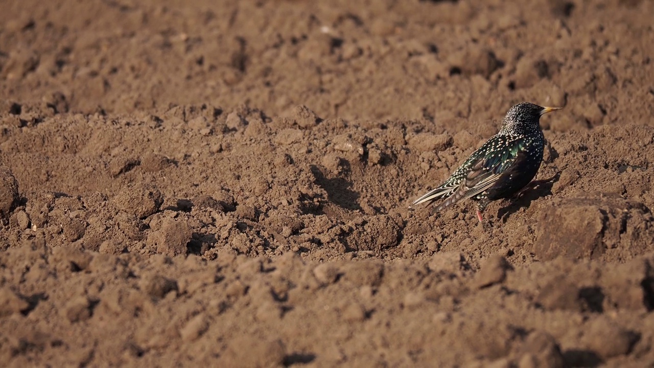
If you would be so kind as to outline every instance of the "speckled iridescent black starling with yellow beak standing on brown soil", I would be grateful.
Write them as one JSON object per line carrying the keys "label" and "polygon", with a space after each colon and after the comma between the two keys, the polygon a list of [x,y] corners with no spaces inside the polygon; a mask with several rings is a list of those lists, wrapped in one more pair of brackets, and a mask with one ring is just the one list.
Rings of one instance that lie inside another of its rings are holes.
{"label": "speckled iridescent black starling with yellow beak standing on brown soil", "polygon": [[492,200],[508,198],[536,176],[543,160],[545,138],[538,121],[543,114],[561,107],[519,103],[506,113],[502,128],[473,152],[438,188],[418,198],[411,206],[445,198],[434,212],[472,198],[477,202],[477,219]]}

